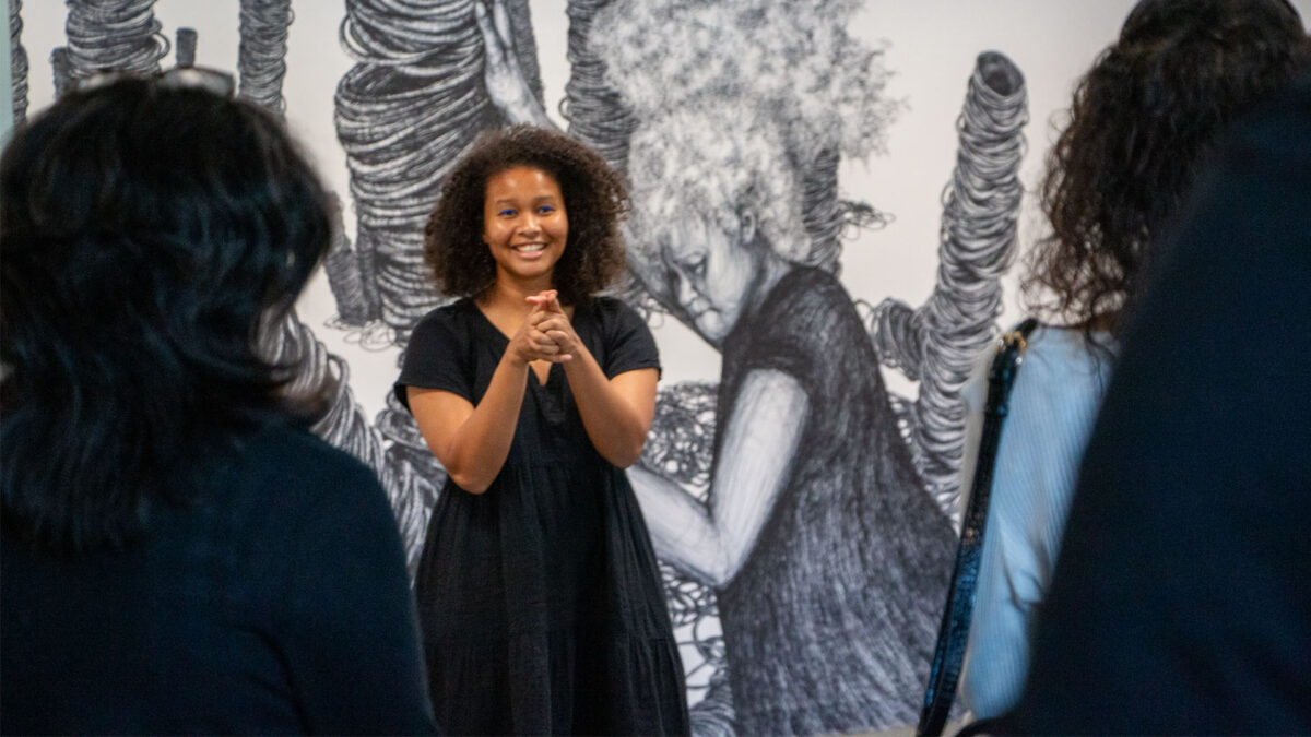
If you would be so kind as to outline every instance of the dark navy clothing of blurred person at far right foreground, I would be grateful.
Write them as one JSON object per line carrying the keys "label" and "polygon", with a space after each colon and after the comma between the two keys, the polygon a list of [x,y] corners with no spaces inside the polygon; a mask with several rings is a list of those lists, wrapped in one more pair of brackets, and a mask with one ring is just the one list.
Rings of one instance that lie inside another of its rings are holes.
{"label": "dark navy clothing of blurred person at far right foreground", "polygon": [[1311,734],[1311,79],[1223,151],[1125,334],[1013,730]]}

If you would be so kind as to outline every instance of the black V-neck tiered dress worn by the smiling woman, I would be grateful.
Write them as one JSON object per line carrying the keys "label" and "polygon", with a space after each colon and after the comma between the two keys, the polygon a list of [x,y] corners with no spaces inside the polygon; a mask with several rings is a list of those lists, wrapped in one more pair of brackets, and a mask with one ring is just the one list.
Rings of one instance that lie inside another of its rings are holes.
{"label": "black V-neck tiered dress worn by the smiling woman", "polygon": [[[646,324],[619,300],[579,304],[573,327],[610,378],[659,367]],[[507,344],[469,299],[434,309],[410,337],[397,397],[413,386],[476,405]],[[587,438],[562,366],[545,384],[528,374],[510,454],[485,493],[447,480],[417,594],[443,730],[688,732],[646,523],[623,469]]]}

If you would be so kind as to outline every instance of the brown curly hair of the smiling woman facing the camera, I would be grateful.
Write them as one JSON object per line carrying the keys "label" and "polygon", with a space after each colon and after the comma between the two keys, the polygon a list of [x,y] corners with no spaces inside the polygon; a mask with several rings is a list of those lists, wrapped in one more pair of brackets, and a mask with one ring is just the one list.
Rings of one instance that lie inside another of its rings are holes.
{"label": "brown curly hair of the smiling woman facing the camera", "polygon": [[569,215],[565,252],[555,268],[564,304],[578,304],[624,270],[619,222],[628,215],[628,189],[598,153],[568,135],[532,126],[486,131],[447,174],[423,228],[423,257],[440,291],[479,296],[496,283],[496,261],[482,243],[482,201],[490,177],[534,167],[560,185]]}

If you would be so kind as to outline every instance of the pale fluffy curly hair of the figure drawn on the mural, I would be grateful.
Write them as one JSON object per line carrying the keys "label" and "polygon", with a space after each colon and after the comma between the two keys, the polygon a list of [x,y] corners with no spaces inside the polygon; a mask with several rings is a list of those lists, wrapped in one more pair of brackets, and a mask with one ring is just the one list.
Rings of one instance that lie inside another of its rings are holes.
{"label": "pale fluffy curly hair of the figure drawn on the mural", "polygon": [[838,199],[840,156],[886,149],[902,102],[882,45],[848,31],[856,0],[645,3],[598,13],[590,45],[632,110],[633,260],[658,264],[670,218],[753,212],[784,258],[836,273],[839,232],[882,222]]}

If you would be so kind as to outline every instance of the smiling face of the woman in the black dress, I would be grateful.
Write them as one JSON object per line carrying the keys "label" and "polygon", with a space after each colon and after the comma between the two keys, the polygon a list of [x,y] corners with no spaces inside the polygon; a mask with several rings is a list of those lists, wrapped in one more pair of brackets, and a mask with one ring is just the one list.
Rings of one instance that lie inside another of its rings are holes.
{"label": "smiling face of the woman in the black dress", "polygon": [[482,243],[496,260],[497,279],[549,278],[565,252],[569,215],[555,177],[515,167],[488,178]]}

